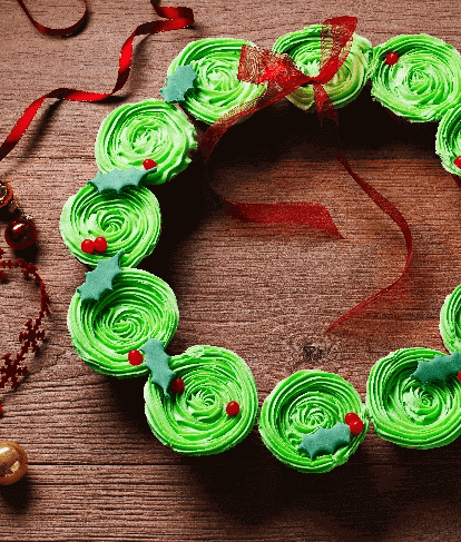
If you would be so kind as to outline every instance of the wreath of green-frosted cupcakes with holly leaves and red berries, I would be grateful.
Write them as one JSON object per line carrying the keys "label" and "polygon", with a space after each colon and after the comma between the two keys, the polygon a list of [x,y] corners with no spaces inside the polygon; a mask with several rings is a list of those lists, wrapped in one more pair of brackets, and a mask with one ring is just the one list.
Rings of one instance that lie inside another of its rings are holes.
{"label": "wreath of green-frosted cupcakes with holly leaves and red berries", "polygon": [[[334,109],[355,99],[371,80],[373,97],[395,115],[412,122],[440,121],[435,151],[447,170],[461,176],[459,52],[425,35],[398,36],[373,48],[352,33],[354,28],[343,32],[340,47],[334,24],[282,36],[263,55],[263,76],[252,63],[251,42],[216,38],[189,43],[168,69],[164,101],[124,105],[102,121],[95,145],[101,173],[63,206],[62,239],[94,268],[70,302],[72,345],[100,373],[148,375],[148,424],[176,452],[226,451],[247,436],[257,417],[255,380],[237,354],[208,345],[173,357],[165,353],[179,321],[175,295],[161,278],[136,269],[153,252],[160,228],[159,206],[146,185],[183,171],[197,147],[184,111],[213,125],[210,137],[203,139],[209,154],[225,129],[284,95],[303,110],[325,109],[325,104]],[[245,69],[256,82],[242,77],[244,53],[249,58]],[[292,87],[288,76],[295,80]],[[379,359],[370,372],[365,403],[336,374],[292,374],[263,403],[263,442],[279,461],[305,473],[345,463],[370,422],[379,436],[400,446],[452,442],[461,434],[460,321],[461,286],[441,311],[440,331],[450,355],[403,348]]]}

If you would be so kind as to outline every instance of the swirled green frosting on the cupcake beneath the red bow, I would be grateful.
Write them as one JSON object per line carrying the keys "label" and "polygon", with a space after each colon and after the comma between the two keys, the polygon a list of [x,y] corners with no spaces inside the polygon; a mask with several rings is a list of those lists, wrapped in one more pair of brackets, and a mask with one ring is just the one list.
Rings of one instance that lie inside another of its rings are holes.
{"label": "swirled green frosting on the cupcake beneath the red bow", "polygon": [[[312,24],[297,32],[281,36],[274,43],[274,52],[288,55],[300,71],[307,76],[317,76],[322,58],[322,24]],[[343,107],[354,100],[367,80],[367,56],[371,42],[354,35],[351,50],[333,79],[325,85],[325,90],[334,107]],[[301,109],[315,107],[312,85],[300,87],[287,99]]]}

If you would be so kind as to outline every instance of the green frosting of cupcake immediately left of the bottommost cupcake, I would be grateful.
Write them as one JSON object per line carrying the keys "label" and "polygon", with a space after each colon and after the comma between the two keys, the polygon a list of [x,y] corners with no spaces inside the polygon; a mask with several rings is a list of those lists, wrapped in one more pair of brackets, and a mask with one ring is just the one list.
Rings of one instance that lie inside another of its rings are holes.
{"label": "green frosting of cupcake immediately left of the bottommost cupcake", "polygon": [[[257,414],[252,372],[235,353],[216,346],[193,346],[174,356],[169,367],[185,391],[165,397],[150,378],[145,385],[146,416],[153,433],[175,452],[209,455],[224,452],[251,432]],[[236,401],[233,417],[226,405]]]}

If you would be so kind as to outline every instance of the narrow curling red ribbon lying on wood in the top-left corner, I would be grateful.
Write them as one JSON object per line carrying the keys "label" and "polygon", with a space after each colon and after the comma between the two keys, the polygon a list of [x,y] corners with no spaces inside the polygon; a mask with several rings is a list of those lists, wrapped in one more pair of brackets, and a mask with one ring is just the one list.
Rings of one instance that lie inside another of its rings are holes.
{"label": "narrow curling red ribbon lying on wood in the top-left corner", "polygon": [[[21,4],[22,9],[24,9],[29,19],[35,23],[35,26],[43,31],[50,30],[46,27],[42,27],[39,23],[36,23],[27,9],[23,7],[20,0],[18,0]],[[189,27],[194,23],[194,13],[189,8],[160,8],[156,6],[155,0],[150,0],[153,8],[155,9],[156,13],[159,17],[168,19],[166,21],[153,21],[153,22],[144,22],[139,24],[136,30],[131,33],[131,36],[125,41],[121,50],[120,50],[120,61],[118,68],[118,77],[115,83],[114,89],[110,92],[87,92],[85,90],[75,90],[70,88],[57,88],[48,92],[47,95],[42,96],[41,98],[33,101],[26,111],[21,115],[19,120],[17,121],[14,128],[11,130],[7,139],[0,147],[0,160],[2,160],[6,156],[11,152],[11,150],[17,146],[18,141],[23,136],[24,131],[29,128],[30,122],[33,120],[38,109],[43,104],[46,98],[59,98],[62,100],[69,101],[100,101],[109,96],[112,96],[115,92],[120,90],[124,85],[126,83],[130,67],[131,67],[131,56],[133,56],[133,41],[137,36],[144,36],[148,33],[158,33],[158,32],[168,32],[169,30],[178,30],[180,28]],[[77,23],[78,24],[78,23]],[[71,27],[69,27],[71,28]],[[52,30],[52,29],[51,29]],[[63,29],[67,30],[67,29]],[[58,30],[62,31],[61,30]]]}

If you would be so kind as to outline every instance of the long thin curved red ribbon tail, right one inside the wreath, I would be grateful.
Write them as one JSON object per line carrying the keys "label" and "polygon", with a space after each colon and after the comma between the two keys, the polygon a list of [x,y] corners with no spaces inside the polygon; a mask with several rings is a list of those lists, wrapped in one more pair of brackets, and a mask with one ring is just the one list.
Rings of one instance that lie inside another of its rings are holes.
{"label": "long thin curved red ribbon tail, right one inside the wreath", "polygon": [[374,299],[381,297],[384,293],[389,292],[390,289],[394,288],[405,276],[406,272],[409,270],[410,267],[410,262],[411,262],[411,256],[413,252],[413,238],[411,235],[410,227],[404,218],[404,216],[400,213],[400,210],[391,203],[389,199],[386,199],[384,196],[382,196],[377,190],[375,190],[372,186],[370,186],[367,183],[365,183],[357,174],[355,174],[347,159],[345,158],[344,155],[337,155],[336,159],[342,164],[345,168],[345,170],[349,173],[349,175],[355,180],[355,183],[362,188],[362,190],[382,209],[389,217],[392,218],[392,220],[399,226],[401,229],[403,237],[405,239],[405,245],[406,245],[406,259],[405,259],[405,265],[402,269],[402,273],[400,276],[389,286],[385,286],[382,288],[380,292],[376,292],[373,294],[371,297],[367,299],[364,299],[363,302],[359,303],[355,307],[351,308],[351,311],[347,311],[347,313],[343,314],[340,318],[337,318],[333,324],[330,324],[330,326],[326,328],[324,333],[328,333],[332,331],[334,327],[337,325],[342,324],[346,318],[352,316],[353,314],[357,313],[362,308],[364,308],[366,305],[369,305],[371,302]]}

